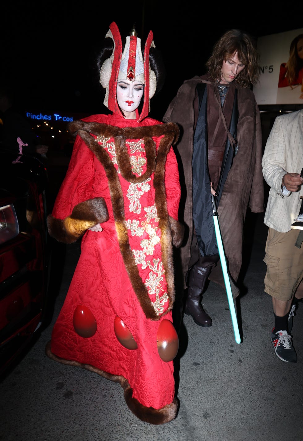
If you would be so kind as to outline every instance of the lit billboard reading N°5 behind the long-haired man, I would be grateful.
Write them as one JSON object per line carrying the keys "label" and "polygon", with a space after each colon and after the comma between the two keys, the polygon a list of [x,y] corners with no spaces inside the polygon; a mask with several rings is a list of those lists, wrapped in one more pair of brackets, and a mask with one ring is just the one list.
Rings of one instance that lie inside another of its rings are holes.
{"label": "lit billboard reading N\u00b05 behind the long-haired man", "polygon": [[303,106],[303,28],[259,37],[257,51],[261,66],[259,83],[253,88],[257,104]]}

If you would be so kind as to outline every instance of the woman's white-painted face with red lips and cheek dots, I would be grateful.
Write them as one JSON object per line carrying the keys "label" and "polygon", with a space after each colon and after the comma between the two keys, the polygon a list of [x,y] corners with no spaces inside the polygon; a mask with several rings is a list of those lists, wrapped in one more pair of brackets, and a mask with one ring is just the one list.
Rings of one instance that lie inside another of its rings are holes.
{"label": "woman's white-painted face with red lips and cheek dots", "polygon": [[138,108],[144,93],[144,84],[139,81],[120,80],[117,84],[117,101],[126,120],[136,119]]}

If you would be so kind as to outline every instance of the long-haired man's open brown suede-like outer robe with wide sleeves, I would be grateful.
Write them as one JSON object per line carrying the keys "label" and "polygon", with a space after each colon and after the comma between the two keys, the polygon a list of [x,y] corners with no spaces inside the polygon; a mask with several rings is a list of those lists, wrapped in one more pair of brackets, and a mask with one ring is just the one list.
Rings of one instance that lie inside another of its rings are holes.
{"label": "long-haired man's open brown suede-like outer robe with wide sleeves", "polygon": [[[195,241],[192,221],[192,153],[194,129],[198,118],[196,86],[202,79],[209,80],[206,75],[186,80],[163,117],[165,122],[177,123],[181,130],[175,152],[179,164],[182,192],[180,203],[180,211],[182,210],[182,212],[179,213],[179,219],[183,218],[185,224],[185,239],[181,247],[184,284],[189,266],[195,263],[195,258],[191,255],[191,247]],[[215,94],[218,97],[216,83],[207,84],[208,99],[214,99]],[[247,207],[251,209],[251,212],[262,212],[264,197],[259,108],[253,92],[248,87],[238,88],[237,102],[239,111],[237,142],[239,148],[233,158],[233,164],[225,181],[218,206],[220,230],[228,261],[227,266],[229,274],[235,282],[242,264],[243,225]],[[209,108],[207,114],[209,114]],[[209,279],[225,287],[221,265],[212,269]],[[237,294],[237,292],[233,292],[234,297]]]}

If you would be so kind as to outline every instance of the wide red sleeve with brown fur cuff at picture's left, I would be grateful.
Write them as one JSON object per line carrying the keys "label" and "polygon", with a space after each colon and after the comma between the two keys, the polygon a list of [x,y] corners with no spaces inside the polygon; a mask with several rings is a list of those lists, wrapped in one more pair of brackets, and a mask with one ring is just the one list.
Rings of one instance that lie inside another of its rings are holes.
{"label": "wide red sleeve with brown fur cuff at picture's left", "polygon": [[77,136],[67,174],[48,216],[49,235],[63,243],[73,243],[88,228],[108,220],[107,206],[94,193],[93,153]]}

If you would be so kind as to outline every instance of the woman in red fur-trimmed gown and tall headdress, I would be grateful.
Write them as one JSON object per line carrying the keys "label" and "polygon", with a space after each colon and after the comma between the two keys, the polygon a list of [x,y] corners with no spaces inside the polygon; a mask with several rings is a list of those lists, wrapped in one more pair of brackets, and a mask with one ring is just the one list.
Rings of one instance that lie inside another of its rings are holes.
{"label": "woman in red fur-trimmed gown and tall headdress", "polygon": [[172,256],[183,228],[171,145],[179,132],[147,116],[159,73],[152,33],[144,56],[135,32],[123,53],[114,22],[106,37],[100,83],[113,113],[70,123],[74,149],[48,217],[55,239],[83,238],[46,354],[119,382],[138,418],[163,424],[177,412]]}

